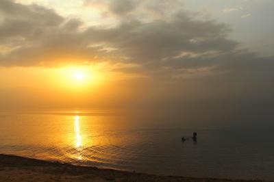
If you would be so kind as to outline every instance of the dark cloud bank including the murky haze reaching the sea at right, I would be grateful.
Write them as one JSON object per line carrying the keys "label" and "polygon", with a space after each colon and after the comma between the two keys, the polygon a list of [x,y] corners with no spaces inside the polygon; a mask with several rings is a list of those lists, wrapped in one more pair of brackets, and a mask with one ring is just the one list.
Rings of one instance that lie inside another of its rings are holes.
{"label": "dark cloud bank including the murky haze reaching the sea at right", "polygon": [[[144,22],[134,17],[140,1],[121,2],[113,1],[109,10],[117,17],[131,14],[127,21],[82,29],[81,21],[53,10],[0,1],[0,46],[10,48],[1,53],[1,66],[134,63],[139,66],[118,70],[149,75],[153,83],[131,84],[142,87],[142,94],[121,105],[161,106],[166,114],[193,120],[272,122],[273,57],[239,49],[227,38],[227,25],[198,20],[181,9]],[[163,11],[163,2],[147,6],[149,12]]]}

